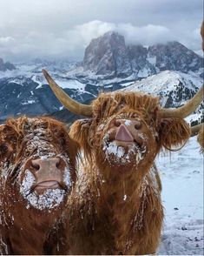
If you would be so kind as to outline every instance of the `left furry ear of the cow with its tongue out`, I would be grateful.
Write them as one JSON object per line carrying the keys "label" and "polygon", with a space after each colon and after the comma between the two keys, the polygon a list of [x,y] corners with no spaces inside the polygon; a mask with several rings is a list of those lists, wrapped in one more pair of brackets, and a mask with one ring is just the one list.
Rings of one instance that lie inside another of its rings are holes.
{"label": "left furry ear of the cow with its tongue out", "polygon": [[89,145],[89,128],[92,123],[92,119],[79,119],[70,127],[69,135],[74,138],[80,145],[80,147],[85,150],[90,150]]}

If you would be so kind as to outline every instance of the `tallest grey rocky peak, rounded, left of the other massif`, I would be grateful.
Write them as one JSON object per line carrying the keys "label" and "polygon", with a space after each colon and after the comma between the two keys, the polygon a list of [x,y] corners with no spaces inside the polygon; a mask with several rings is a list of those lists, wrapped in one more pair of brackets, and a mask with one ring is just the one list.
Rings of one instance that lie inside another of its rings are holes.
{"label": "tallest grey rocky peak, rounded, left of the other massif", "polygon": [[93,39],[85,50],[84,71],[94,71],[96,75],[115,75],[131,73],[128,50],[124,37],[115,32],[107,32]]}

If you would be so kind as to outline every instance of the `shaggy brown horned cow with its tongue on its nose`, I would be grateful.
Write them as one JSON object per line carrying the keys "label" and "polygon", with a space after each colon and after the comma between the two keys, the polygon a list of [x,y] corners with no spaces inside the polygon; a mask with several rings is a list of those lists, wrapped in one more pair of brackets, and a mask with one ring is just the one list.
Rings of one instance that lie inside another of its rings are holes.
{"label": "shaggy brown horned cow with its tongue on its nose", "polygon": [[153,167],[164,147],[191,135],[183,118],[201,103],[203,88],[179,109],[161,109],[158,98],[134,92],[102,93],[78,104],[43,71],[56,97],[89,116],[71,127],[82,147],[82,174],[68,200],[71,254],[155,253],[161,237],[161,183]]}

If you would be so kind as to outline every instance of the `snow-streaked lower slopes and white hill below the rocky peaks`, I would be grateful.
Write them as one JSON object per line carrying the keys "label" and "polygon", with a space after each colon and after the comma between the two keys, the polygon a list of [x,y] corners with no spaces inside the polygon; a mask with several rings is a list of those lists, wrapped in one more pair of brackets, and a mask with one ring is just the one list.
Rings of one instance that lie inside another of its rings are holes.
{"label": "snow-streaked lower slopes and white hill below the rocky peaks", "polygon": [[[0,119],[22,114],[51,114],[63,109],[62,104],[49,89],[43,74],[39,71],[42,67],[44,66],[37,68],[35,66],[35,71],[25,71],[25,66],[23,66],[23,75],[17,74],[19,70],[16,70],[12,71],[11,77],[0,78]],[[29,69],[30,67],[27,67],[27,70]],[[80,102],[89,102],[97,97],[100,91],[124,89],[157,95],[161,98],[161,104],[164,107],[177,107],[192,98],[202,84],[201,77],[180,71],[161,71],[140,81],[113,78],[102,80],[100,83],[84,77],[69,77],[66,72],[51,71],[50,73],[64,91]],[[200,112],[199,117],[194,115],[191,121],[201,119],[201,107],[198,112]],[[59,115],[62,116],[62,114]],[[67,114],[64,116],[66,120]]]}

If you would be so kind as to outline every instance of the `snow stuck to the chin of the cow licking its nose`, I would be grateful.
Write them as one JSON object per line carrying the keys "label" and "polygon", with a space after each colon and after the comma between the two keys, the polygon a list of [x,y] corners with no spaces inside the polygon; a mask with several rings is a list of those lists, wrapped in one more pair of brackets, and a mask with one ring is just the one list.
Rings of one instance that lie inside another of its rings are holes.
{"label": "snow stuck to the chin of the cow licking its nose", "polygon": [[144,158],[146,147],[141,150],[138,145],[131,145],[128,148],[128,152],[122,147],[122,145],[117,145],[115,141],[109,142],[109,133],[103,139],[103,152],[106,154],[106,158],[114,155],[115,163],[126,164],[130,163],[131,156],[135,155],[135,162],[139,164],[139,162]]}

